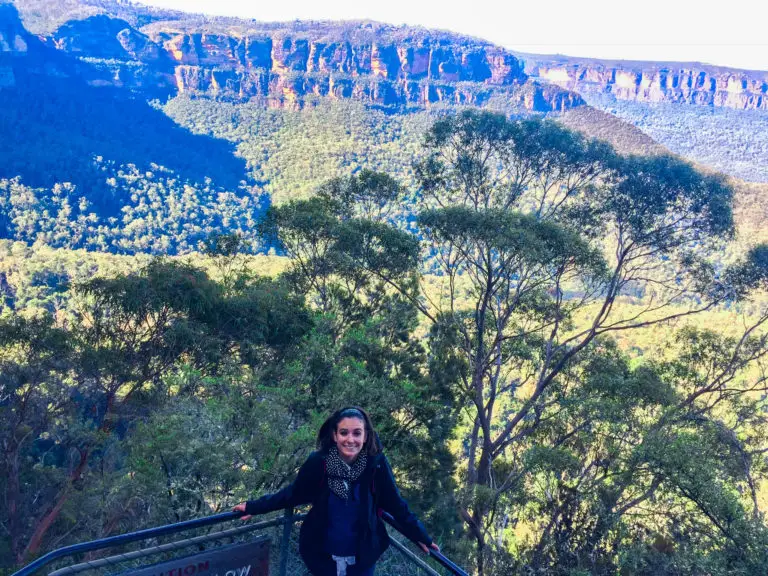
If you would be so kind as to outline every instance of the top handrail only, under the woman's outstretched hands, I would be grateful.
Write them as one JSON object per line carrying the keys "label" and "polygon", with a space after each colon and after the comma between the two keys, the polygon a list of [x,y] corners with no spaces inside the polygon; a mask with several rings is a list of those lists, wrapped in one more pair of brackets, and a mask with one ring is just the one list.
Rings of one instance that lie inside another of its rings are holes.
{"label": "top handrail only, under the woman's outstretched hands", "polygon": [[[275,519],[274,524],[293,525],[294,518],[293,510],[291,509],[286,513],[285,518]],[[59,558],[66,556],[73,556],[75,554],[82,554],[84,552],[92,552],[94,550],[100,550],[102,548],[111,548],[113,546],[120,546],[122,544],[128,544],[131,542],[138,542],[140,540],[148,540],[150,538],[157,538],[159,536],[166,536],[168,534],[175,534],[177,532],[183,532],[185,530],[192,530],[194,528],[202,528],[204,526],[211,526],[213,524],[219,524],[221,522],[227,522],[229,520],[236,520],[241,516],[244,516],[244,512],[223,512],[221,514],[214,514],[212,516],[205,516],[203,518],[195,518],[194,520],[185,520],[183,522],[177,522],[175,524],[166,524],[164,526],[157,526],[155,528],[146,528],[144,530],[138,530],[136,532],[129,532],[128,534],[120,534],[119,536],[109,536],[107,538],[100,538],[99,540],[91,540],[90,542],[82,542],[80,544],[72,544],[70,546],[64,546],[58,548],[44,556],[41,556],[37,560],[27,564],[12,576],[30,576],[37,572],[43,566],[46,566]],[[382,513],[382,518],[390,524],[395,530],[405,535],[398,525],[397,521],[387,512]],[[442,552],[433,548],[429,549],[429,555],[432,556],[437,562],[439,562],[446,569],[450,570],[455,576],[469,576],[459,566],[454,564],[449,558],[447,558]]]}

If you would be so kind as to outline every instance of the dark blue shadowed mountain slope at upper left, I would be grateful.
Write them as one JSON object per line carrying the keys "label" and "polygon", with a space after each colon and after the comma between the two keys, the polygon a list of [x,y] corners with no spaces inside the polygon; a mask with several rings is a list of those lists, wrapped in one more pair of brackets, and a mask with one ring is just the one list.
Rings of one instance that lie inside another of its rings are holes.
{"label": "dark blue shadowed mountain slope at upper left", "polygon": [[[34,186],[68,176],[77,181],[92,171],[94,156],[118,164],[155,163],[225,186],[236,187],[244,176],[244,162],[229,145],[181,129],[87,59],[29,34],[10,4],[0,4],[0,78],[0,176],[20,175]],[[144,96],[169,94],[169,86],[155,84]]]}

